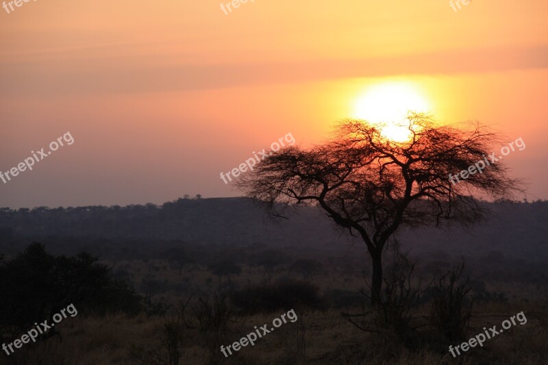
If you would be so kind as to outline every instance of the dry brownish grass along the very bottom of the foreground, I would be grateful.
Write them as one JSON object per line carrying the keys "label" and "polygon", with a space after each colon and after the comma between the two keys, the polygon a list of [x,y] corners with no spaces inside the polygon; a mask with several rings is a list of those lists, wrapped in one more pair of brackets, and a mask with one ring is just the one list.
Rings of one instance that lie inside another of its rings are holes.
{"label": "dry brownish grass along the very bottom of the foreground", "polygon": [[[189,330],[180,364],[297,364],[297,323],[306,327],[306,364],[546,364],[548,314],[542,305],[489,304],[475,308],[468,337],[483,327],[525,312],[527,323],[512,326],[508,331],[487,340],[484,347],[475,347],[453,359],[448,351],[434,351],[427,344],[410,349],[396,338],[365,333],[353,327],[336,310],[300,313],[296,323],[286,323],[260,338],[255,346],[243,347],[225,360],[220,350],[213,356],[197,330]],[[225,345],[253,331],[254,326],[271,323],[282,314],[260,314],[238,318],[223,335]],[[40,344],[27,344],[1,364],[40,365],[103,365],[132,364],[130,348],[160,346],[162,318],[123,315],[105,318],[68,318],[60,324],[62,342],[50,338]],[[270,327],[270,325],[269,325]],[[305,364],[301,362],[301,364]]]}

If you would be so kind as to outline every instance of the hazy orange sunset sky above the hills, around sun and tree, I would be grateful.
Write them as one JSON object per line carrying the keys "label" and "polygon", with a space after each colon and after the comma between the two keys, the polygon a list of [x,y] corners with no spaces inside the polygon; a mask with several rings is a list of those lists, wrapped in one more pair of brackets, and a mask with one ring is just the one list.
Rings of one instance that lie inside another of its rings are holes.
{"label": "hazy orange sunset sky above the hills, around sun and tree", "polygon": [[[227,1],[225,1],[226,3]],[[523,138],[508,155],[548,199],[548,2],[38,0],[0,8],[0,206],[236,196],[227,172],[288,132],[310,145],[386,81],[442,123]],[[458,8],[457,8],[458,9]]]}

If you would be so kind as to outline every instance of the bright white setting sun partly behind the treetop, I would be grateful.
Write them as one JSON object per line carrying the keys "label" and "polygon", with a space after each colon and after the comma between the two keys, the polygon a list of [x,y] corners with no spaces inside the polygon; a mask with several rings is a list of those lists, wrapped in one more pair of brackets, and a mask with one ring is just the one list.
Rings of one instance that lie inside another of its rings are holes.
{"label": "bright white setting sun partly behind the treetop", "polygon": [[354,103],[353,118],[379,125],[384,138],[406,142],[411,132],[406,126],[408,112],[429,112],[430,103],[419,86],[391,81],[368,88]]}

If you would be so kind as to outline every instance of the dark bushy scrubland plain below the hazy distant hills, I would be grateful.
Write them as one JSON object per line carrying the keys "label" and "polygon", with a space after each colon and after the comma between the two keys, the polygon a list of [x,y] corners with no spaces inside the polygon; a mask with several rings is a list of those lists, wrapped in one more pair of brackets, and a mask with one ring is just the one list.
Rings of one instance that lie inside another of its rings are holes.
{"label": "dark bushy scrubland plain below the hazy distant hills", "polygon": [[[516,281],[499,292],[496,282],[469,279],[463,262],[432,273],[395,252],[386,266],[383,305],[374,309],[362,275],[342,270],[340,262],[284,261],[275,250],[254,257],[272,262],[99,263],[87,253],[55,256],[32,244],[0,264],[3,342],[68,303],[79,314],[36,344],[3,354],[0,363],[543,364],[548,355],[544,284]],[[544,301],[526,299],[520,286],[536,286]],[[295,323],[223,356],[221,345],[290,309]],[[450,344],[522,311],[525,325],[457,358],[449,354]]]}

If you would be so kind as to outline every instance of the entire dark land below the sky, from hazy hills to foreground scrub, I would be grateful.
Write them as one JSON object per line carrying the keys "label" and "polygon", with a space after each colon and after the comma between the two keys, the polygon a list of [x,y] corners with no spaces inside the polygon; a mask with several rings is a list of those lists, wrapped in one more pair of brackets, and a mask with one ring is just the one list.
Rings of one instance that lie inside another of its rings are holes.
{"label": "entire dark land below the sky, from hazy hills to foreground scrub", "polygon": [[[245,199],[234,199],[234,207],[208,200],[180,199],[168,209],[194,220],[197,231],[205,231],[197,222],[212,205],[219,210],[209,224],[238,214],[249,214],[249,224],[226,226],[217,233],[223,239],[210,243],[190,240],[195,232],[175,240],[162,237],[180,229],[172,212],[158,238],[152,232],[116,238],[101,229],[106,218],[99,212],[75,208],[64,213],[66,231],[53,235],[45,232],[60,212],[4,211],[0,227],[10,229],[0,241],[2,342],[21,338],[69,303],[78,314],[9,357],[1,353],[0,364],[545,364],[548,358],[545,202],[506,207],[469,234],[404,234],[403,249],[387,251],[382,305],[373,308],[364,247],[323,230],[329,226],[321,218],[305,209],[299,227],[279,227],[256,221]],[[141,216],[142,208],[121,208],[119,231],[140,225],[140,217],[154,221],[164,208],[150,209]],[[84,226],[81,234],[74,229]],[[245,227],[239,239],[234,232]],[[416,244],[412,254],[406,242]],[[221,345],[291,309],[295,323],[227,358],[221,353]],[[483,327],[500,328],[519,312],[525,325],[456,358],[449,353],[449,345]]]}

